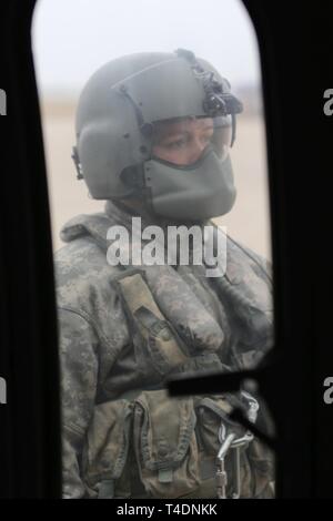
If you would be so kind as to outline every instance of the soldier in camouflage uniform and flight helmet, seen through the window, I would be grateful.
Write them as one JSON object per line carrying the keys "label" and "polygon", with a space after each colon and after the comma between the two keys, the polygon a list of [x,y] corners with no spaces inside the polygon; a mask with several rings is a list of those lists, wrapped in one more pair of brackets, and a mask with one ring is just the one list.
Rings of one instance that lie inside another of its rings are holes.
{"label": "soldier in camouflage uniform and flight helmet, seen through the window", "polygon": [[[133,259],[145,241],[134,217],[162,232],[209,223],[200,246],[219,244],[209,219],[235,200],[229,147],[241,110],[229,82],[185,50],[111,61],[81,93],[73,159],[107,205],[62,228],[56,257],[64,498],[272,496],[270,454],[228,417],[238,405],[255,421],[253,397],[165,390],[174,375],[262,359],[272,345],[266,263],[225,236],[219,276],[194,263],[194,238],[188,264],[179,248],[165,263],[165,244],[163,255],[154,248],[161,262]],[[121,229],[128,243],[114,243]]]}

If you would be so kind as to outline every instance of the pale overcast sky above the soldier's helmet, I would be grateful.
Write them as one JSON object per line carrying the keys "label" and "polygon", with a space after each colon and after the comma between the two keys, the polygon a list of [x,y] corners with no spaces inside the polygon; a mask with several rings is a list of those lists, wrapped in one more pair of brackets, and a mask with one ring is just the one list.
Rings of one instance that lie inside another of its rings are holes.
{"label": "pale overcast sky above the soldier's helmet", "polygon": [[39,0],[33,52],[43,94],[77,95],[107,61],[191,49],[234,88],[260,83],[256,38],[240,0]]}

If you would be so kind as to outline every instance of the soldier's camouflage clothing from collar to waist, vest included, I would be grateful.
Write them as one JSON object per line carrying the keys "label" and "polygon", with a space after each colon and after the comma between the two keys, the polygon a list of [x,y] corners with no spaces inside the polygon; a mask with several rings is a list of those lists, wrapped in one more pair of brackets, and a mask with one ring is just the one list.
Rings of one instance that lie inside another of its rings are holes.
{"label": "soldier's camouflage clothing from collar to waist, vest included", "polygon": [[[261,360],[272,345],[266,263],[228,237],[219,288],[201,266],[142,266],[139,282],[160,318],[141,327],[119,290],[121,269],[105,255],[108,229],[130,223],[128,212],[108,202],[105,213],[69,222],[61,233],[68,244],[56,254],[63,496],[215,497],[218,430],[230,402],[222,395],[171,399],[164,381],[174,372]],[[132,298],[140,295],[137,286]],[[165,321],[175,344],[161,334]],[[263,497],[271,459],[258,443],[251,450],[242,461],[242,496]]]}

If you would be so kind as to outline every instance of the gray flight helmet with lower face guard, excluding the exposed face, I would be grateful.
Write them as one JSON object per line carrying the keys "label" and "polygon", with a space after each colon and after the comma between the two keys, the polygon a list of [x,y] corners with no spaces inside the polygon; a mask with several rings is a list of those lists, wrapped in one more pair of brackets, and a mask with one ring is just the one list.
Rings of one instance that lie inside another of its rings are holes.
{"label": "gray flight helmet with lower face guard, excluding the exposed face", "polygon": [[[164,216],[222,215],[235,198],[229,155],[210,147],[196,164],[179,167],[152,156],[152,135],[157,122],[213,118],[216,132],[231,130],[232,145],[241,111],[229,82],[191,51],[113,60],[90,78],[79,100],[72,155],[78,177],[98,200],[137,195]],[[181,185],[179,170],[189,174]]]}

